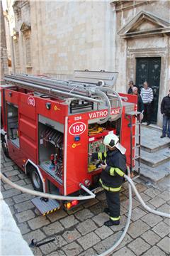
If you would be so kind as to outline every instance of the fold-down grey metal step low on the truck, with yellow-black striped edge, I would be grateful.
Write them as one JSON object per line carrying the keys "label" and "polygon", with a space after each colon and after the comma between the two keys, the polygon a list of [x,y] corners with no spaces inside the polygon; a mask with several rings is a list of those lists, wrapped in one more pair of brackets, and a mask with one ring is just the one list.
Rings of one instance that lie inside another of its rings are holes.
{"label": "fold-down grey metal step low on the truck, with yellow-black striped edge", "polygon": [[31,199],[32,203],[38,208],[42,215],[47,215],[60,209],[61,203],[59,201],[55,199],[48,199],[48,201],[46,201],[45,199],[46,198],[40,196]]}

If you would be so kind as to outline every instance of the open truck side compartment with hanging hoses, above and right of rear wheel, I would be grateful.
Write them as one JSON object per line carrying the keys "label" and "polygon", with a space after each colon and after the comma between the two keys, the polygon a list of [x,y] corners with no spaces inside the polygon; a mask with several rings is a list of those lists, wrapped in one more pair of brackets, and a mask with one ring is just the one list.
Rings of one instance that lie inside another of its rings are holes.
{"label": "open truck side compartment with hanging hoses, above and right of rear wheel", "polygon": [[62,124],[39,115],[39,163],[47,174],[60,183],[63,183],[63,131]]}

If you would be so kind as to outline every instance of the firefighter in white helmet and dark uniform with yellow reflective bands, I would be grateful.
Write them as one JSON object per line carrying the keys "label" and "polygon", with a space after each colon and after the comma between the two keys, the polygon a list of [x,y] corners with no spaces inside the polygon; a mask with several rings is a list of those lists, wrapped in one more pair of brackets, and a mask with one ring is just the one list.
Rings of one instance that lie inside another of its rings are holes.
{"label": "firefighter in white helmet and dark uniform with yellow reflective bands", "polygon": [[101,160],[100,183],[106,192],[106,201],[108,208],[104,212],[110,215],[110,220],[104,225],[120,224],[120,189],[123,183],[123,175],[126,171],[126,149],[119,143],[119,138],[115,134],[108,134],[103,140],[103,144],[107,146],[108,151],[101,153],[93,153],[93,159]]}

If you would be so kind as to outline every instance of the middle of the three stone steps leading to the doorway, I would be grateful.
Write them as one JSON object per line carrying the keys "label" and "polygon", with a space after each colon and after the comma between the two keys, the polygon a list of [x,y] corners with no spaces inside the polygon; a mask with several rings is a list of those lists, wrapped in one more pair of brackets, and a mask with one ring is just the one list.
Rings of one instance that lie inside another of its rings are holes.
{"label": "middle of the three stone steps leading to the doorway", "polygon": [[[160,149],[159,151],[149,153],[148,151],[141,150],[141,162],[150,167],[156,167],[160,164],[170,161],[170,149]],[[170,169],[170,164],[169,164]]]}

